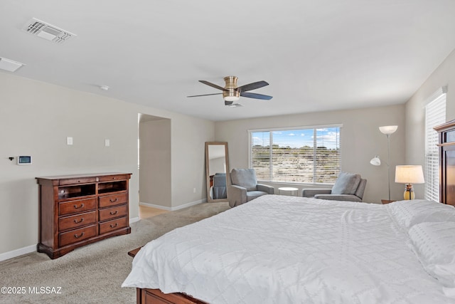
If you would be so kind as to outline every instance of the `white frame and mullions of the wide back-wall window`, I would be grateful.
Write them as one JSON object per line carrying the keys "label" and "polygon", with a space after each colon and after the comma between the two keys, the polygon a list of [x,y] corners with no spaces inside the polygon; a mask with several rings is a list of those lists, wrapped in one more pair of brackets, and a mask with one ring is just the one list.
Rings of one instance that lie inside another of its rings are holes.
{"label": "white frame and mullions of the wide back-wall window", "polygon": [[[278,131],[298,131],[298,130],[317,130],[319,129],[326,129],[326,128],[338,128],[338,150],[339,150],[339,162],[338,162],[338,173],[341,172],[341,150],[342,150],[342,143],[341,143],[341,130],[343,128],[343,124],[329,124],[329,125],[305,125],[305,126],[298,126],[298,127],[270,127],[270,128],[261,128],[261,129],[249,129],[248,132],[248,167],[252,168],[252,133],[254,132],[270,132],[270,139],[272,140],[272,132]],[[269,142],[269,145],[273,142]],[[316,153],[316,149],[313,147],[314,153]],[[272,156],[272,150],[270,150],[270,154]],[[314,162],[313,162],[314,163]],[[326,184],[333,184],[333,182],[314,182],[314,175],[313,175],[313,182],[285,182],[285,181],[276,181],[273,180],[273,163],[269,166],[269,180],[267,179],[259,179],[263,182],[271,182],[275,184],[309,184],[309,185],[326,185]],[[315,167],[313,167],[314,170]]]}

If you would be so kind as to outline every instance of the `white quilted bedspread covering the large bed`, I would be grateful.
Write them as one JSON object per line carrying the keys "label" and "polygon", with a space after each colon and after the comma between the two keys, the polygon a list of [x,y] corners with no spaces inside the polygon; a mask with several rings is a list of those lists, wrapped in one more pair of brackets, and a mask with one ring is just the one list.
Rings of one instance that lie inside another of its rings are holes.
{"label": "white quilted bedspread covering the large bed", "polygon": [[387,205],[278,195],[151,241],[122,286],[208,303],[455,303]]}

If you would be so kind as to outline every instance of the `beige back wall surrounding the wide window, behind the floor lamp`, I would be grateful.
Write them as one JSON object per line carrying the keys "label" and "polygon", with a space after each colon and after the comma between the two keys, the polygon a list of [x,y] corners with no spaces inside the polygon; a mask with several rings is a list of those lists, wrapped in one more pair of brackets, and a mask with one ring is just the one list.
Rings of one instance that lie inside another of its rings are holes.
{"label": "beige back wall surrounding the wide window, behind the floor lamp", "polygon": [[[216,122],[215,137],[229,145],[230,168],[248,167],[249,129],[273,127],[302,127],[312,125],[343,124],[341,128],[341,169],[358,172],[368,179],[364,201],[379,203],[387,199],[387,167],[383,164],[375,167],[370,164],[375,154],[382,160],[387,159],[387,137],[378,127],[398,125],[398,130],[390,137],[391,168],[405,161],[405,106],[393,105],[380,108],[365,108],[331,112],[314,112],[296,115],[261,117],[248,120],[230,120]],[[391,169],[391,172],[393,170]],[[394,178],[391,174],[391,179]],[[273,184],[275,193],[283,184]],[[300,189],[309,185],[294,184]],[[392,199],[402,196],[402,185],[390,183]]]}

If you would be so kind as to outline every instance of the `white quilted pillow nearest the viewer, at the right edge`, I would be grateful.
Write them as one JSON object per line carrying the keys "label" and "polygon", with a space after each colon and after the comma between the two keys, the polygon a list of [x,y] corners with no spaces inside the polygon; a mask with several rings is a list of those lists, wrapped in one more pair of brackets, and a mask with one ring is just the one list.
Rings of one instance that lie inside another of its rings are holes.
{"label": "white quilted pillow nearest the viewer, at the right edge", "polygon": [[455,222],[416,224],[409,234],[425,270],[446,287],[454,288]]}

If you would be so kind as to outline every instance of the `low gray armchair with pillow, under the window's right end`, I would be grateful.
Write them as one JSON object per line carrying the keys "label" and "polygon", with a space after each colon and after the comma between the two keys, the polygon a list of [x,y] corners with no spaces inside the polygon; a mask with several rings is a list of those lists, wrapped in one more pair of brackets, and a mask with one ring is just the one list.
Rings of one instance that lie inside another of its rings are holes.
{"label": "low gray armchair with pillow, under the window's right end", "polygon": [[367,180],[360,174],[340,172],[332,189],[303,189],[302,196],[335,201],[362,201]]}

